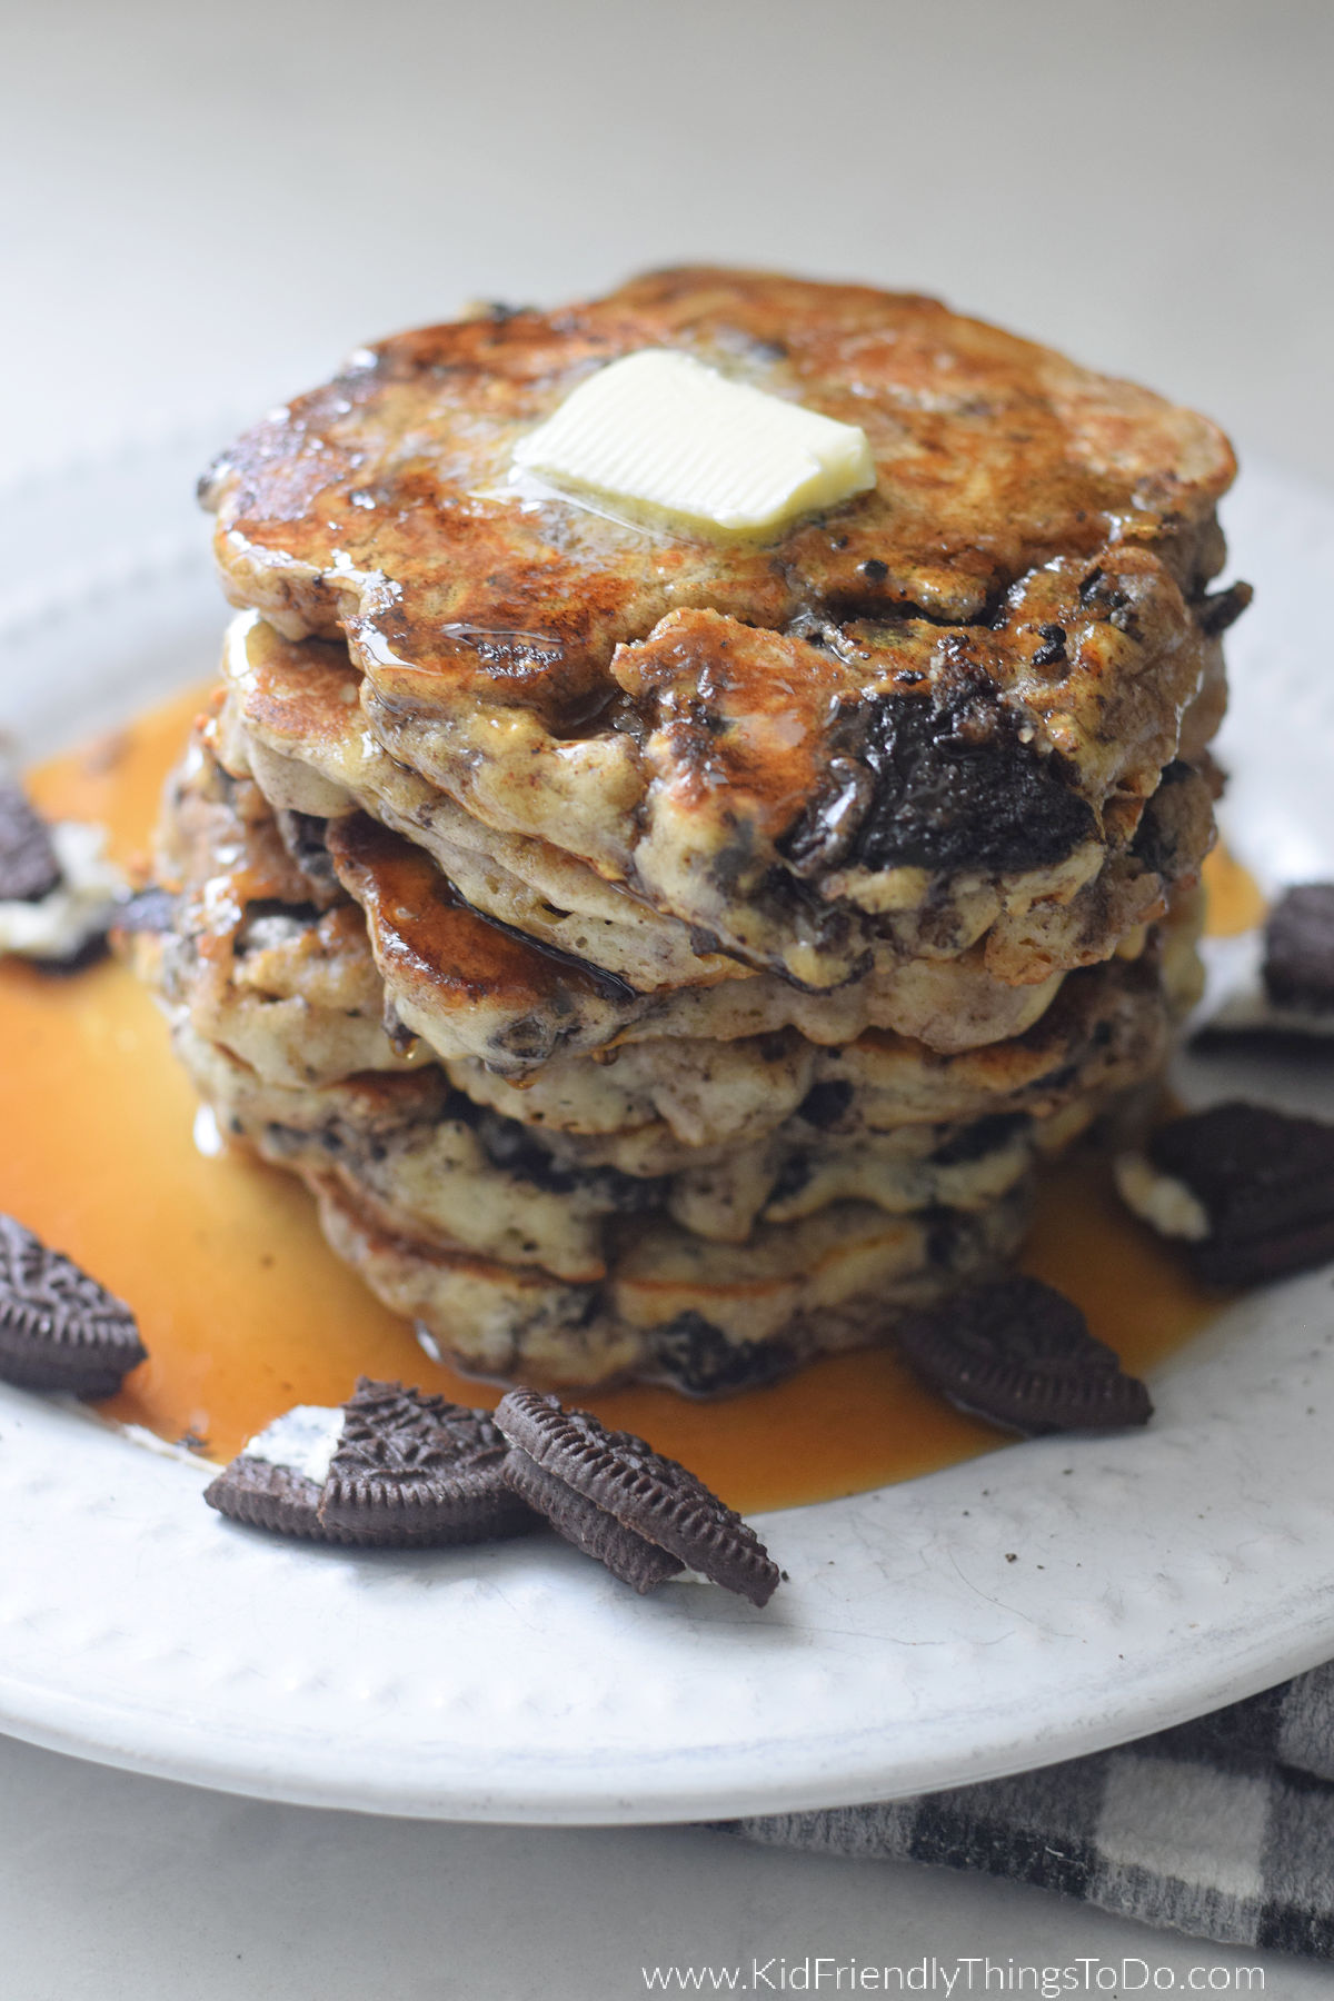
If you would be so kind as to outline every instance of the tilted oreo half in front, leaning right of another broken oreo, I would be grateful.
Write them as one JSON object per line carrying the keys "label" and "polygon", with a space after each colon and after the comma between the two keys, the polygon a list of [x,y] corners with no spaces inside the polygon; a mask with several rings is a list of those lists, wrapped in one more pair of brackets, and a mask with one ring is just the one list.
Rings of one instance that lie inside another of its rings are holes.
{"label": "tilted oreo half in front, leaning right of another broken oreo", "polygon": [[[576,1547],[608,1561],[604,1551],[610,1547],[610,1531],[600,1517],[610,1515],[622,1529],[666,1551],[676,1565],[700,1571],[752,1605],[768,1605],[780,1573],[754,1529],[694,1473],[654,1453],[644,1439],[628,1431],[606,1431],[588,1411],[566,1411],[554,1397],[530,1389],[512,1389],[500,1399],[496,1425],[518,1453],[556,1483],[538,1487],[528,1479],[528,1493],[536,1497],[542,1491],[550,1497],[550,1509],[546,1503],[538,1505],[550,1525]],[[528,1477],[524,1461],[510,1457],[504,1477],[522,1491],[518,1483]],[[576,1495],[586,1505],[570,1505],[566,1495]],[[588,1507],[598,1513],[590,1517]],[[652,1591],[662,1577],[628,1581],[638,1591]]]}

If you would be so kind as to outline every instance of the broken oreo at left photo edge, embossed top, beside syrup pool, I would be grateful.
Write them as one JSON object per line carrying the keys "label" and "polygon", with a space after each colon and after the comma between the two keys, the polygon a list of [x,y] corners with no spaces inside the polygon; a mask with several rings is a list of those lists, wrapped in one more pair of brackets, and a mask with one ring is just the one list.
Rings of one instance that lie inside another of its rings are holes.
{"label": "broken oreo at left photo edge, embossed top, beside syrup pool", "polygon": [[0,1377],[20,1389],[114,1397],[148,1351],[134,1315],[62,1251],[0,1215]]}

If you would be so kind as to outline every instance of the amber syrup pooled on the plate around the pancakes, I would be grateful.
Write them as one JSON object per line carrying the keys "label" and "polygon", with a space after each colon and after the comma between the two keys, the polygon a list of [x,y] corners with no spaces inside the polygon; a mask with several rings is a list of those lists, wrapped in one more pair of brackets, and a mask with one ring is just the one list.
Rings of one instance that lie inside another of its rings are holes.
{"label": "amber syrup pooled on the plate around the pancakes", "polygon": [[[98,818],[130,860],[200,694],[32,774],[50,814]],[[0,964],[0,1209],[126,1299],[150,1361],[102,1409],[226,1461],[298,1403],[342,1403],[356,1375],[462,1403],[500,1391],[436,1367],[324,1245],[300,1183],[252,1155],[204,1157],[166,1027],[116,964],[74,978]],[[1080,1303],[1134,1371],[1216,1311],[1116,1201],[1100,1163],[1048,1179],[1024,1269]],[[574,1401],[574,1399],[572,1399]],[[922,1391],[888,1351],[828,1357],[788,1383],[692,1403],[662,1389],[578,1397],[682,1459],[734,1507],[824,1501],[1006,1443]],[[1078,1449],[1072,1445],[1072,1449]]]}

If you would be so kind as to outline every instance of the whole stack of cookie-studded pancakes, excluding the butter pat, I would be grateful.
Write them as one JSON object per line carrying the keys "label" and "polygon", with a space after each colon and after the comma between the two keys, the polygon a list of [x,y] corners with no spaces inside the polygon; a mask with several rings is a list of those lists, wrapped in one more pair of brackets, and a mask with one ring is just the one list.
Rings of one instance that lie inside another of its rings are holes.
{"label": "whole stack of cookie-studded pancakes, excluding the butter pat", "polygon": [[[512,478],[648,346],[860,424],[876,490],[728,540]],[[1192,994],[1232,470],[862,288],[358,352],[204,484],[242,614],[134,940],[198,1089],[488,1375],[736,1389],[996,1269]]]}

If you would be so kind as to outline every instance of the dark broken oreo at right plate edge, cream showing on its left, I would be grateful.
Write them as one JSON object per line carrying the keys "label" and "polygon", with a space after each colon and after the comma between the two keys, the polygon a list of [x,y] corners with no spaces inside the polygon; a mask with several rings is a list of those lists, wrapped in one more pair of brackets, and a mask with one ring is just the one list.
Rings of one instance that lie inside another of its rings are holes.
{"label": "dark broken oreo at right plate edge, cream showing on its left", "polygon": [[1232,1101],[1172,1119],[1150,1165],[1200,1203],[1190,1245],[1210,1285],[1258,1285],[1334,1259],[1334,1125]]}

